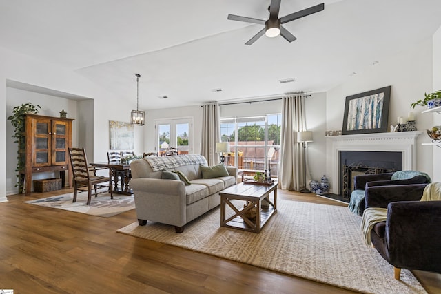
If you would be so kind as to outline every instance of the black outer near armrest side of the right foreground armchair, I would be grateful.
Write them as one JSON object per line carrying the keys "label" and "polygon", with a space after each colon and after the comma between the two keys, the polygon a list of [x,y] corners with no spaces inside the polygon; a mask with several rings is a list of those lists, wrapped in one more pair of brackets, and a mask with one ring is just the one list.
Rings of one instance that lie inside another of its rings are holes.
{"label": "black outer near armrest side of the right foreground armchair", "polygon": [[394,266],[441,271],[441,201],[393,202],[384,245]]}

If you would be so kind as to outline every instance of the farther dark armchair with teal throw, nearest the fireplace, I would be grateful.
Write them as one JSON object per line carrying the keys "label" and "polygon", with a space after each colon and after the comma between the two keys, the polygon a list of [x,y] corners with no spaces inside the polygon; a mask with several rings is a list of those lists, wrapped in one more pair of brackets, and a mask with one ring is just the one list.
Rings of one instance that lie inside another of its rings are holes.
{"label": "farther dark armchair with teal throw, nearest the fireplace", "polygon": [[[396,171],[394,173],[356,176],[354,178],[354,187],[351,193],[351,200],[349,201],[349,209],[353,213],[358,214],[358,216],[362,216],[363,211],[365,211],[365,198],[367,193],[381,194],[381,191],[383,189],[387,189],[385,187],[388,186],[424,184],[429,182],[431,182],[431,178],[427,174],[420,171]],[[393,193],[399,194],[402,193],[402,191],[396,190]],[[420,198],[421,195],[422,193],[420,194]],[[411,198],[409,200],[420,200],[420,198]],[[384,208],[386,207],[387,206]]]}

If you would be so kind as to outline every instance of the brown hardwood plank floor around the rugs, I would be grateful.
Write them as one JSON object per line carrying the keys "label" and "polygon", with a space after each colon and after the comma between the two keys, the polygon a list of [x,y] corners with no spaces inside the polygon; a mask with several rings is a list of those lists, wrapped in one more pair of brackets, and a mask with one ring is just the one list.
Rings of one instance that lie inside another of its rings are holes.
{"label": "brown hardwood plank floor around the rugs", "polygon": [[[14,293],[354,293],[116,233],[136,221],[134,210],[100,218],[23,203],[69,191],[8,196],[0,203],[0,288]],[[314,194],[279,190],[278,196],[345,205]],[[440,293],[440,275],[416,275],[429,293]]]}

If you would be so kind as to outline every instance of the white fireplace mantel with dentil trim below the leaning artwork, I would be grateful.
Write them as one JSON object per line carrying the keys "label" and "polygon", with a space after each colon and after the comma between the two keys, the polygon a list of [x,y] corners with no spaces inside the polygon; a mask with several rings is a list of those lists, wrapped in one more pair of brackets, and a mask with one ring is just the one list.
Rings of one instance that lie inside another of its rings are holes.
{"label": "white fireplace mantel with dentil trim below the leaning artwork", "polygon": [[402,169],[411,170],[416,166],[416,138],[422,132],[389,132],[373,134],[356,134],[327,136],[332,141],[332,177],[334,193],[340,191],[339,162],[340,151],[389,151],[402,153]]}

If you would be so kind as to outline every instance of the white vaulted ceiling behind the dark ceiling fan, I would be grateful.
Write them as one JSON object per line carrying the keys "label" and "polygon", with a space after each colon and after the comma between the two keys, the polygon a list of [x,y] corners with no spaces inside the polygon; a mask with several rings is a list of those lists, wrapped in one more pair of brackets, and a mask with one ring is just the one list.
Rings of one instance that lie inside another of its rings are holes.
{"label": "white vaulted ceiling behind the dark ceiling fan", "polygon": [[[140,109],[323,92],[429,38],[439,0],[282,0],[297,37],[262,36],[270,0],[0,0],[0,46],[89,78]],[[293,83],[280,80],[294,78]],[[221,89],[222,91],[214,91]],[[167,96],[167,98],[160,98]]]}

